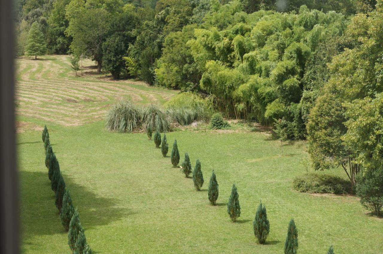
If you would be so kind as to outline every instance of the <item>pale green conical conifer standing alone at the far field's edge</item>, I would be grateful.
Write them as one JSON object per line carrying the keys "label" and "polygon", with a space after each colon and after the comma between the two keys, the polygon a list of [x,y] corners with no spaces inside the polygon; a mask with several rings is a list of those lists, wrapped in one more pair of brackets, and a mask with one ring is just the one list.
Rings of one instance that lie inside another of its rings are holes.
{"label": "pale green conical conifer standing alone at the far field's edge", "polygon": [[29,29],[28,38],[26,41],[25,52],[27,56],[34,56],[34,59],[37,59],[37,56],[42,56],[46,53],[47,46],[44,38],[43,31],[37,21],[35,21],[31,29]]}

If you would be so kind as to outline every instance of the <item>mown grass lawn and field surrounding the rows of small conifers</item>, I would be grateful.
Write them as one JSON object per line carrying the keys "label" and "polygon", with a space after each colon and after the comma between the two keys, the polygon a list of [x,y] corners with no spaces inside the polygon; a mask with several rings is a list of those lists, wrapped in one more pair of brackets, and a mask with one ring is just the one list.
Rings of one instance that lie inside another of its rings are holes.
{"label": "mown grass lawn and field surrounding the rows of small conifers", "polygon": [[[330,245],[337,254],[382,253],[383,220],[369,216],[356,197],[292,190],[293,178],[306,172],[299,164],[306,156],[304,141],[286,144],[281,156],[279,141],[242,124],[229,131],[167,133],[169,150],[177,139],[182,159],[188,152],[193,167],[200,159],[205,184],[197,192],[192,179],[172,168],[146,134],[104,128],[108,105],[125,95],[120,89],[137,103],[163,102],[175,92],[100,75],[74,77],[64,56],[48,58],[18,61],[17,113],[25,123],[17,141],[23,253],[70,253],[44,166],[41,131],[36,131],[44,124],[94,253],[283,253],[291,218],[298,227],[299,253],[325,254]],[[82,100],[80,92],[84,98],[94,95],[95,102]],[[107,99],[99,101],[100,94]],[[75,105],[66,96],[75,97]],[[44,98],[57,100],[50,111],[44,108],[52,102]],[[209,205],[206,191],[213,169],[217,206]],[[332,172],[344,176],[341,170]],[[226,212],[233,183],[241,204],[236,223]],[[270,220],[266,245],[257,244],[252,231],[259,200]]]}

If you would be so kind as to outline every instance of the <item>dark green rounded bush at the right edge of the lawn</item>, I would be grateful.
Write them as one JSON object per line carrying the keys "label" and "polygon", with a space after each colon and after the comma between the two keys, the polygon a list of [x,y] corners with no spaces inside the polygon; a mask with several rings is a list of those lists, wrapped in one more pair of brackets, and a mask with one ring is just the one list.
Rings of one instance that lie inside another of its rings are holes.
{"label": "dark green rounded bush at the right edge of the lawn", "polygon": [[356,193],[366,209],[372,210],[377,216],[380,215],[383,207],[383,164],[358,175]]}

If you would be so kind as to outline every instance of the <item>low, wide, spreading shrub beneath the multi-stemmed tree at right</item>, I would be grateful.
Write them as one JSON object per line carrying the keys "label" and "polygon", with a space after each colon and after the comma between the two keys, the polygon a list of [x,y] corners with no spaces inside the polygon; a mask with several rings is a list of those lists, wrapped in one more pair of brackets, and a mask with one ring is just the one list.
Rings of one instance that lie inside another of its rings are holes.
{"label": "low, wide, spreading shrub beneath the multi-stemmed tree at right", "polygon": [[293,188],[300,192],[310,193],[351,193],[349,181],[330,174],[307,173],[293,180]]}

